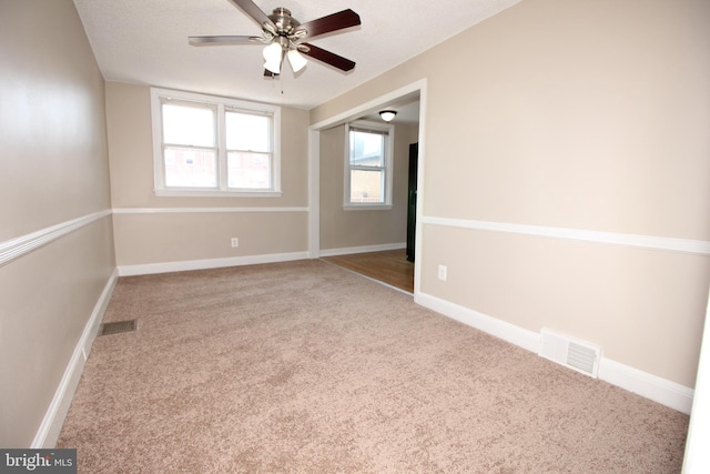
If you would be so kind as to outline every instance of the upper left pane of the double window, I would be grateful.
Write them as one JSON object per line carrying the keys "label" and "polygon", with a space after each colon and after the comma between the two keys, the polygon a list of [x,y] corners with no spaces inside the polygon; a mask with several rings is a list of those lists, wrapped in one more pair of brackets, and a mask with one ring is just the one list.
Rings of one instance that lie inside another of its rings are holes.
{"label": "upper left pane of the double window", "polygon": [[163,104],[163,143],[214,147],[215,135],[214,110]]}

